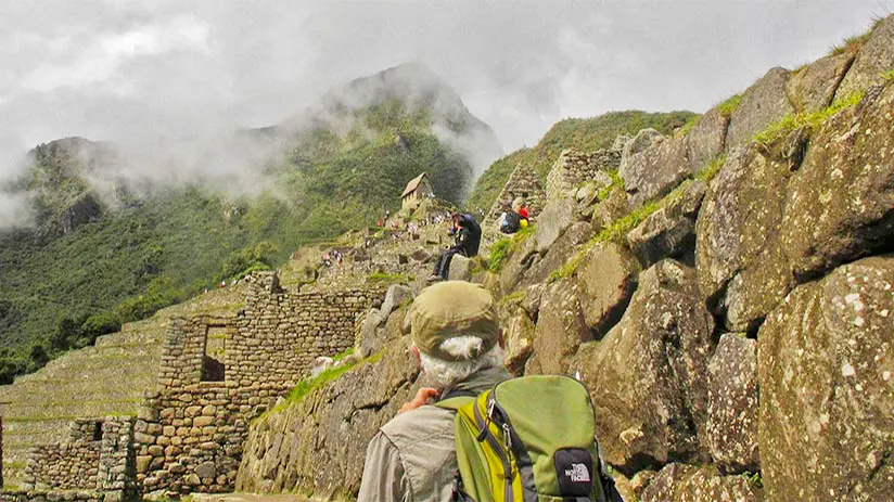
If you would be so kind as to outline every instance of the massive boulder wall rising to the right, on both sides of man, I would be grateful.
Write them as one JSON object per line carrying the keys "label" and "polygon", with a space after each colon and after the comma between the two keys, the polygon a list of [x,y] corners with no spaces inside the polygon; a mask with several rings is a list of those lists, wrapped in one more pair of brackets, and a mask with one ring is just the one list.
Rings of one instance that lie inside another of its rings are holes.
{"label": "massive boulder wall rising to the right, on both sides of man", "polygon": [[[587,386],[625,493],[894,492],[892,33],[772,68],[689,131],[563,152],[532,235],[473,276],[500,298],[513,374]],[[830,107],[844,92],[860,99]],[[371,310],[361,353],[384,360],[253,427],[239,488],[356,492],[362,446],[417,385],[406,319]]]}

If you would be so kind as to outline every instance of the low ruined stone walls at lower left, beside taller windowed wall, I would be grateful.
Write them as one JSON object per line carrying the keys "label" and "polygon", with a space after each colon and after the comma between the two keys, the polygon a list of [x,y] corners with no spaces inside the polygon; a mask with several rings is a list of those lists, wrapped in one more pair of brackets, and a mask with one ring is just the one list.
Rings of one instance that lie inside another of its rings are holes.
{"label": "low ruined stone walls at lower left, beside taller windowed wall", "polygon": [[73,421],[67,441],[31,449],[23,488],[95,490],[107,500],[132,493],[133,422],[129,416]]}

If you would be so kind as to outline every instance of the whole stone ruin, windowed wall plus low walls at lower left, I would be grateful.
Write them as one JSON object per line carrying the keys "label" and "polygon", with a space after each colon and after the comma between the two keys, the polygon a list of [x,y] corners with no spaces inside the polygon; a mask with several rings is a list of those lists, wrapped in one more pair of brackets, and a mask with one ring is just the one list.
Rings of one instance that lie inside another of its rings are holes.
{"label": "whole stone ruin, windowed wall plus low walls at lower left", "polygon": [[383,292],[291,293],[256,272],[235,317],[173,319],[156,389],[137,417],[72,422],[65,442],[34,448],[27,484],[0,502],[115,502],[137,493],[232,491],[251,421],[355,346]]}

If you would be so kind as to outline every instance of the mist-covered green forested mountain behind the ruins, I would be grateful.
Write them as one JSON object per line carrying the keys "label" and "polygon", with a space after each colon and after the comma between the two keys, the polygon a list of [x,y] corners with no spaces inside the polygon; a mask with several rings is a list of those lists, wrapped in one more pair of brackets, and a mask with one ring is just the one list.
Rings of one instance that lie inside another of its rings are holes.
{"label": "mist-covered green forested mountain behind the ruins", "polygon": [[419,64],[265,128],[35,146],[0,183],[0,378],[92,343],[302,244],[369,227],[427,172],[459,204],[501,154]]}

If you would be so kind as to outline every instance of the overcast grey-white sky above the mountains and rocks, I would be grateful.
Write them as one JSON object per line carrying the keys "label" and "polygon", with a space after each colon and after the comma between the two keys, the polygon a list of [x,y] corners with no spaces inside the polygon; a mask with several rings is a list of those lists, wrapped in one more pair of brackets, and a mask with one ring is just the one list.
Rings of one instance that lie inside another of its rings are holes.
{"label": "overcast grey-white sky above the mountains and rocks", "polygon": [[266,126],[417,61],[510,152],[564,117],[703,112],[891,12],[894,0],[3,1],[0,151]]}

